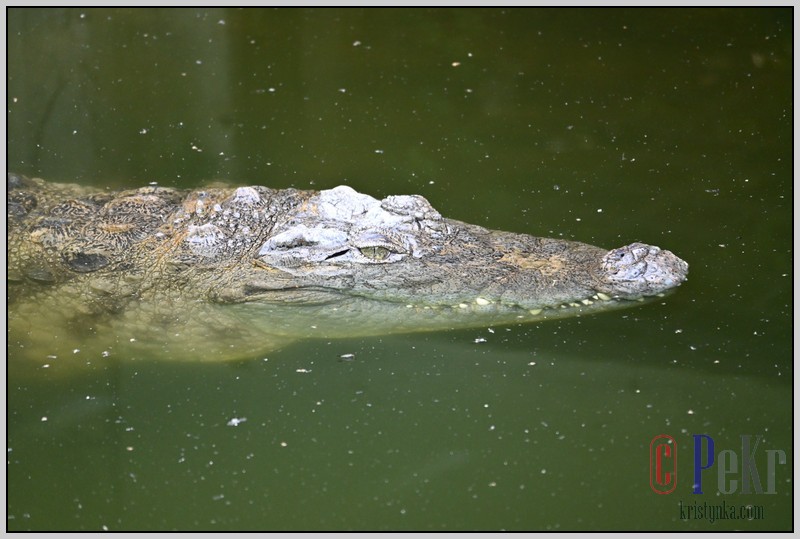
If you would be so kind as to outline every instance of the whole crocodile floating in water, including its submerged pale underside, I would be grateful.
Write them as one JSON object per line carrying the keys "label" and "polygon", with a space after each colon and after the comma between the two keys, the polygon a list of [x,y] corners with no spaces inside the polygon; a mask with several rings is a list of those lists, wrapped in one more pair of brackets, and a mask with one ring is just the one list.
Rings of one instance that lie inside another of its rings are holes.
{"label": "whole crocodile floating in water, including its submerged pale underside", "polygon": [[419,195],[7,177],[9,357],[241,359],[306,338],[586,315],[688,264],[442,217]]}

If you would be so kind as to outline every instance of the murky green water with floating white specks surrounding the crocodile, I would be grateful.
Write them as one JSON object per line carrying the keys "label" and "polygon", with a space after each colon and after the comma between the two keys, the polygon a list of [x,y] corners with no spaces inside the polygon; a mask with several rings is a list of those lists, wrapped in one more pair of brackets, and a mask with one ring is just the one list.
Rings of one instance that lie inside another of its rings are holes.
{"label": "murky green water with floating white specks surrounding the crocodile", "polygon": [[10,170],[347,183],[690,264],[676,294],[593,317],[10,379],[8,529],[791,529],[791,10],[7,16]]}

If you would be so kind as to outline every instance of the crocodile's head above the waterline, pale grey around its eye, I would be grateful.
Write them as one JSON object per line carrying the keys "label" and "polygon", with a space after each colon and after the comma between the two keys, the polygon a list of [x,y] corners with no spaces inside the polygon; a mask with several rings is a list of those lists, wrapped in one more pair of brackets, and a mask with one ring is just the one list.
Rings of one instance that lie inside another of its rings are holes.
{"label": "crocodile's head above the waterline, pale grey around its eye", "polygon": [[561,317],[567,307],[663,294],[687,272],[671,252],[643,243],[608,251],[492,231],[445,219],[421,196],[376,200],[340,186],[295,207],[260,245],[241,286],[223,296],[294,304],[365,298]]}

